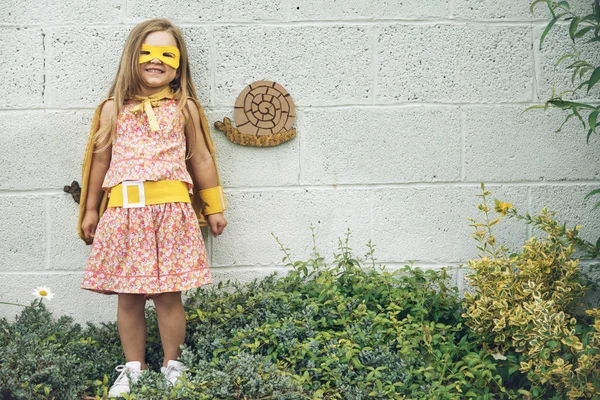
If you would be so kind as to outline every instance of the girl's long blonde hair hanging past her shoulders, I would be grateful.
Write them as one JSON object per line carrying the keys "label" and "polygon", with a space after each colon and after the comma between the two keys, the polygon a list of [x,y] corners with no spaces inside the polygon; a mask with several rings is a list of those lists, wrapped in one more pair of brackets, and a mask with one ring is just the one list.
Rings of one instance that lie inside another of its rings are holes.
{"label": "girl's long blonde hair hanging past her shoulders", "polygon": [[186,124],[191,123],[187,101],[188,98],[197,100],[198,96],[196,95],[196,88],[192,81],[188,52],[183,39],[183,34],[178,27],[173,25],[171,21],[167,19],[151,19],[144,21],[131,30],[127,37],[127,41],[125,42],[117,75],[108,91],[108,97],[112,98],[114,101],[110,122],[101,126],[94,135],[96,147],[100,147],[97,151],[102,151],[110,146],[117,128],[117,117],[119,112],[127,100],[134,98],[140,92],[141,78],[138,60],[142,43],[148,34],[160,31],[170,32],[177,42],[177,48],[179,48],[181,56],[179,68],[177,69],[177,76],[170,83],[170,86],[174,92],[174,98],[178,102],[176,112],[183,113]]}

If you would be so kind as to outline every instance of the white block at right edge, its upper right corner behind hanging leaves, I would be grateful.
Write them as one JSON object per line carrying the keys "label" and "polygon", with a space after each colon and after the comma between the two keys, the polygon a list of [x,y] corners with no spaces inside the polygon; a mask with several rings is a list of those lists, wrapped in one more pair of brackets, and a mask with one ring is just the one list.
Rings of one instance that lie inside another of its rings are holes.
{"label": "white block at right edge, its upper right corner behind hanging leaves", "polygon": [[598,143],[587,145],[572,120],[555,133],[564,115],[523,112],[522,105],[466,106],[465,179],[468,181],[598,180]]}

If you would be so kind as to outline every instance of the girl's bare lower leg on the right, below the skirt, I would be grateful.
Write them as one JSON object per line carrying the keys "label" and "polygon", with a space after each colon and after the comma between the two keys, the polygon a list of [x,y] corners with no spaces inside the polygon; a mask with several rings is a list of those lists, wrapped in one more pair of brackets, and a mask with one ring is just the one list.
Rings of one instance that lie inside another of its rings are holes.
{"label": "girl's bare lower leg on the right, below the skirt", "polygon": [[181,346],[185,340],[185,312],[181,303],[181,292],[161,293],[152,299],[156,307],[158,329],[165,358],[163,366],[169,360],[177,360],[181,355]]}

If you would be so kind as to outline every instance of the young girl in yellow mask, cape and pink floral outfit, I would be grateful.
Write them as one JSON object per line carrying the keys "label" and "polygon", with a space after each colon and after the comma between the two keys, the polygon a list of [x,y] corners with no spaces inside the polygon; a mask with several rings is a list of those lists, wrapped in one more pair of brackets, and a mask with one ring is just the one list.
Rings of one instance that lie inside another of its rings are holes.
{"label": "young girl in yellow mask, cape and pink floral outfit", "polygon": [[92,123],[82,182],[79,234],[93,240],[82,287],[118,294],[126,364],[117,367],[109,397],[129,393],[130,381],[147,368],[150,297],[161,371],[174,383],[185,370],[177,361],[185,338],[181,291],[211,283],[200,225],[218,236],[227,222],[183,36],[168,20],[143,22],[129,34]]}

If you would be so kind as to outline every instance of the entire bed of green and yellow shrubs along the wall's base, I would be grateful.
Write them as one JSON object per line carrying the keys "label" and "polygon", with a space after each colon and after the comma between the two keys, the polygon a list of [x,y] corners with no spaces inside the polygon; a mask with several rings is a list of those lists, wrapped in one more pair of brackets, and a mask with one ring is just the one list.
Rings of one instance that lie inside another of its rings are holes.
{"label": "entire bed of green and yellow shrubs along the wall's base", "polygon": [[[585,292],[573,250],[577,229],[552,215],[519,216],[508,203],[472,221],[481,257],[474,292],[461,299],[450,271],[377,265],[356,257],[349,234],[333,262],[317,249],[287,276],[201,288],[186,300],[190,367],[175,387],[156,371],[128,399],[578,399],[599,387],[598,311],[575,307]],[[505,217],[546,237],[519,253],[496,244]],[[314,237],[314,235],[313,235]],[[148,310],[147,360],[162,359]],[[0,397],[102,398],[122,360],[115,324],[80,327],[43,304],[0,320]]]}

